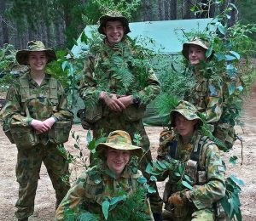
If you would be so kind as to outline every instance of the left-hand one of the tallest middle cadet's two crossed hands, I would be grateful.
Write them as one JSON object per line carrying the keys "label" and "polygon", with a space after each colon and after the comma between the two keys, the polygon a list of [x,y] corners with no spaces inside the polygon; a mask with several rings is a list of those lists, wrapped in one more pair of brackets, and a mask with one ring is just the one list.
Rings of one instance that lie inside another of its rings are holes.
{"label": "left-hand one of the tallest middle cadet's two crossed hands", "polygon": [[112,111],[121,112],[125,109],[125,105],[117,98],[116,94],[101,92],[100,99],[103,99]]}

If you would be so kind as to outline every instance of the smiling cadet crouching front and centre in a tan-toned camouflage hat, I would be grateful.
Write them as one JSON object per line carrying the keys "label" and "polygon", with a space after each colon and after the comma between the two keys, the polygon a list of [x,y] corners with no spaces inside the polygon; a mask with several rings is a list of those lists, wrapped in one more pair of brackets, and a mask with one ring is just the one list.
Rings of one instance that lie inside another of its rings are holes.
{"label": "smiling cadet crouching front and centre in a tan-toned camouflage hat", "polygon": [[[109,133],[106,143],[96,146],[96,155],[102,159],[102,165],[97,164],[80,175],[57,208],[55,220],[66,220],[72,216],[78,218],[83,212],[98,214],[103,220],[102,202],[107,196],[120,196],[125,191],[126,197],[129,197],[138,187],[143,188],[137,181],[143,178],[143,174],[137,170],[137,162],[130,161],[131,156],[141,158],[143,150],[132,145],[129,133],[120,130]],[[109,175],[108,170],[114,176]],[[140,209],[144,211],[140,212],[148,214],[148,220],[154,220],[146,198],[143,206]],[[131,219],[127,217],[125,220],[133,220],[134,214],[129,215]]]}

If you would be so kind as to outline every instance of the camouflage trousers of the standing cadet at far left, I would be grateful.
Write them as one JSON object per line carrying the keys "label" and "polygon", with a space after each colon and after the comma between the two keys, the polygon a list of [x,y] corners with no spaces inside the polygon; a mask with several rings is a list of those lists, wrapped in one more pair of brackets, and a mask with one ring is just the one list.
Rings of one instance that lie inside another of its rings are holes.
{"label": "camouflage trousers of the standing cadet at far left", "polygon": [[19,186],[19,198],[16,201],[16,218],[27,218],[34,212],[34,200],[38,187],[40,168],[44,165],[55,189],[56,207],[67,194],[70,185],[62,181],[68,175],[67,159],[55,144],[38,144],[29,149],[18,150],[16,178]]}

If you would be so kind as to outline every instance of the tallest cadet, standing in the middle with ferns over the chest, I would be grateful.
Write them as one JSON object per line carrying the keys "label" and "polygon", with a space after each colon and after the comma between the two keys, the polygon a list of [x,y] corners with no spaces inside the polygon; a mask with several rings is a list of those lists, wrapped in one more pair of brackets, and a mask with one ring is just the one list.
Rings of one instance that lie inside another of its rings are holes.
{"label": "tallest cadet, standing in the middle with ferns over the chest", "polygon": [[[109,59],[108,51],[121,54],[119,48],[115,47],[116,43],[125,42],[125,50],[131,50],[130,45],[125,40],[125,35],[130,32],[129,23],[121,14],[106,14],[100,18],[98,31],[106,36],[102,42],[102,47],[106,50],[96,54],[89,53],[85,59],[83,81],[79,89],[79,95],[85,102],[84,116],[87,118],[92,116],[88,122],[91,123],[90,127],[93,129],[93,136],[96,139],[102,136],[102,132],[108,134],[116,129],[125,130],[131,135],[132,140],[134,139],[135,133],[138,133],[142,138],[140,146],[144,150],[139,169],[148,178],[145,169],[148,163],[152,161],[152,156],[142,117],[146,105],[159,94],[160,84],[154,75],[154,71],[148,69],[148,78],[146,79],[145,86],[137,91],[136,97],[130,94],[131,92],[123,95],[117,94],[118,88],[122,87],[120,80],[115,78],[110,70],[104,71],[101,69],[104,62]],[[133,54],[133,56],[136,59],[136,54]],[[133,71],[132,64],[125,65],[129,67],[129,71]],[[133,71],[132,74],[136,76],[140,73],[134,73]],[[108,84],[106,90],[103,90],[99,85],[101,81],[106,79]],[[86,106],[88,100],[94,102],[94,107],[90,105]],[[155,182],[153,184],[154,188],[157,189]],[[151,194],[149,199],[155,220],[158,218],[161,220],[162,201],[158,191]]]}

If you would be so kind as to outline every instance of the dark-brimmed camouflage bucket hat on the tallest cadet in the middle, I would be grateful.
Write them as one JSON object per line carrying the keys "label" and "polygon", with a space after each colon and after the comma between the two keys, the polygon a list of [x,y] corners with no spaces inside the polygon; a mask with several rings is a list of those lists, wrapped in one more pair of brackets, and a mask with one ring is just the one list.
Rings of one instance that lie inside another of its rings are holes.
{"label": "dark-brimmed camouflage bucket hat on the tallest cadet in the middle", "polygon": [[107,23],[108,20],[109,21],[119,20],[123,24],[123,26],[125,27],[125,35],[128,34],[129,32],[131,32],[130,27],[129,27],[129,21],[127,20],[127,18],[125,16],[123,16],[122,14],[120,14],[119,12],[112,12],[112,13],[109,13],[109,14],[102,15],[102,17],[99,20],[100,26],[98,28],[98,31],[102,35],[106,35],[103,31],[103,27],[106,26],[106,23]]}

